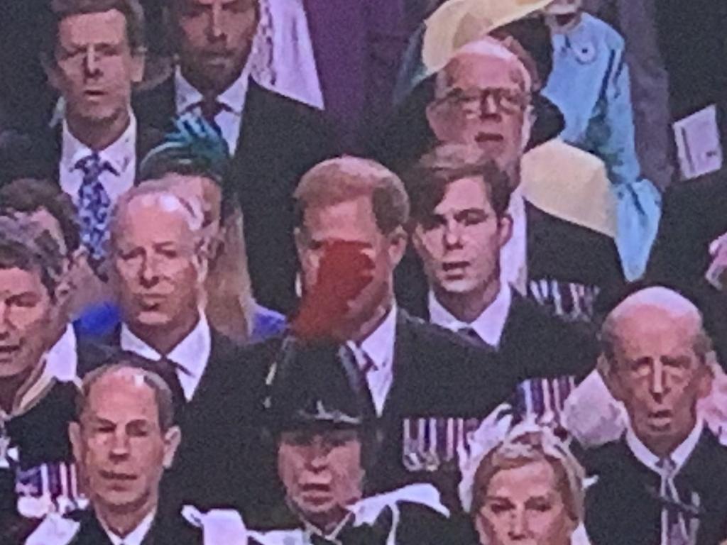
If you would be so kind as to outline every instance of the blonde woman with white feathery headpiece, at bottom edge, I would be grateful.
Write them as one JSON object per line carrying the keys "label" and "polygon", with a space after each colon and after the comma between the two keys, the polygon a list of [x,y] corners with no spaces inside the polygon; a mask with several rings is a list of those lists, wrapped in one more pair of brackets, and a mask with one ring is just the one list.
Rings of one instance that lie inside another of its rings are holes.
{"label": "blonde woman with white feathery headpiece, at bottom edge", "polygon": [[588,545],[582,467],[549,427],[510,428],[508,411],[483,424],[461,462],[459,496],[478,543]]}

